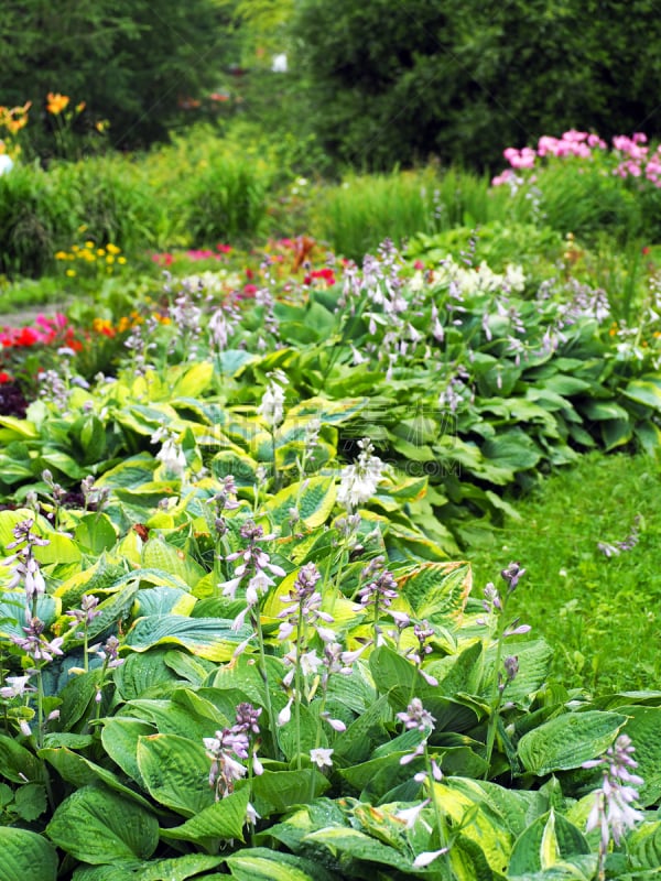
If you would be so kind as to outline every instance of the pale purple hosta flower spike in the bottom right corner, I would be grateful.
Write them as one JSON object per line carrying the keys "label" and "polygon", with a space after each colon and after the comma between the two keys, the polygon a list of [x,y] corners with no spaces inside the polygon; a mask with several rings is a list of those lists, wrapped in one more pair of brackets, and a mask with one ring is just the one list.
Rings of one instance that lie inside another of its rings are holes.
{"label": "pale purple hosta flower spike in the bottom right corner", "polygon": [[638,800],[636,786],[642,786],[644,781],[638,774],[631,773],[638,768],[633,760],[635,747],[627,735],[620,735],[613,747],[609,747],[600,759],[584,762],[583,768],[602,768],[604,782],[595,792],[595,802],[586,824],[586,831],[599,829],[599,878],[603,877],[603,867],[610,838],[619,845],[628,829],[643,819],[643,814],[632,806]]}

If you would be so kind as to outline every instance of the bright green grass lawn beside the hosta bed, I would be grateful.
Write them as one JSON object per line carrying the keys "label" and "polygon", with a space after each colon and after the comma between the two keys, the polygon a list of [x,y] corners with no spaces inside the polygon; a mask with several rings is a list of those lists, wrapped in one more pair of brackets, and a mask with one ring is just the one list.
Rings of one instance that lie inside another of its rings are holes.
{"label": "bright green grass lawn beside the hosta bed", "polygon": [[[468,554],[475,595],[510,561],[527,568],[512,606],[555,649],[554,673],[590,692],[661,688],[661,468],[643,456],[593,454],[548,480]],[[640,539],[606,557],[640,514]]]}

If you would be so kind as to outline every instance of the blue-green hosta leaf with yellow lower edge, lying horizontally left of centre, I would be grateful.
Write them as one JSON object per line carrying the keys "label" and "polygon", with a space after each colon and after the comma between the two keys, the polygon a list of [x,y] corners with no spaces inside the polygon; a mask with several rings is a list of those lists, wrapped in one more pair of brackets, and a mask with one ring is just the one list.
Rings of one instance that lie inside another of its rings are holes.
{"label": "blue-green hosta leaf with yellow lower edge, lying horizontally left of centre", "polygon": [[136,621],[127,633],[126,644],[136,652],[152,645],[183,645],[193,654],[209,661],[227,662],[250,631],[231,629],[231,621],[218,618],[185,618],[180,614],[150,616]]}

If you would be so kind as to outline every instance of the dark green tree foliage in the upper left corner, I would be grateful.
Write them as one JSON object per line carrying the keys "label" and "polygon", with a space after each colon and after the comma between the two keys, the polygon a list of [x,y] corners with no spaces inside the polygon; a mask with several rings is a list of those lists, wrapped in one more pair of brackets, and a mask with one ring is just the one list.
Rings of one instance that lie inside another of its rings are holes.
{"label": "dark green tree foliage in the upper left corner", "polygon": [[230,17],[217,0],[4,0],[0,104],[47,93],[85,101],[121,148],[163,138],[182,104],[232,61]]}

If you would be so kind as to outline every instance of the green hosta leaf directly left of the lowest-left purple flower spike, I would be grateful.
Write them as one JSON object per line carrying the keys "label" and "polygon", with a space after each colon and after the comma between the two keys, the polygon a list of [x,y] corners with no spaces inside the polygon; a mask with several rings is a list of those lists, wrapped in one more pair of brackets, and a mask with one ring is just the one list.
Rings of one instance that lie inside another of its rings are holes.
{"label": "green hosta leaf directly left of the lowest-left purple flower spike", "polygon": [[210,759],[202,742],[177,735],[149,735],[138,740],[137,760],[150,795],[177,814],[192,817],[214,803]]}

